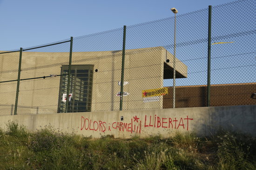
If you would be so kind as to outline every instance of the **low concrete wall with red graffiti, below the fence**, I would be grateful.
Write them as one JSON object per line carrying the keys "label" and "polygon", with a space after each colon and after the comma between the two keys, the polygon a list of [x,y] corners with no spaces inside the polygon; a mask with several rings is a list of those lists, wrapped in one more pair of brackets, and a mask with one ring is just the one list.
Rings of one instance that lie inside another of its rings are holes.
{"label": "low concrete wall with red graffiti, below the fence", "polygon": [[0,127],[4,128],[8,120],[18,120],[30,131],[51,125],[63,132],[95,138],[101,135],[130,138],[134,135],[146,137],[158,134],[168,137],[177,131],[195,131],[202,136],[214,134],[219,128],[256,136],[256,105],[9,115],[0,117]]}

